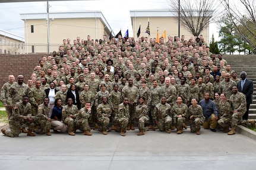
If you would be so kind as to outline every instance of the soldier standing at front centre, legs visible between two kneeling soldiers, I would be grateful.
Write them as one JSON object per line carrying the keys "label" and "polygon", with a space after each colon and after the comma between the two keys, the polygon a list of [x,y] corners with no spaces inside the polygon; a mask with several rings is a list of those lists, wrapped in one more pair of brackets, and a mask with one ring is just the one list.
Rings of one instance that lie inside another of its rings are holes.
{"label": "soldier standing at front centre, legs visible between two kneeling soldiers", "polygon": [[135,120],[135,107],[138,102],[139,94],[138,88],[133,85],[132,78],[128,79],[128,85],[122,89],[122,99],[125,97],[128,98],[129,105],[129,123],[127,126],[127,130],[134,130],[134,120]]}

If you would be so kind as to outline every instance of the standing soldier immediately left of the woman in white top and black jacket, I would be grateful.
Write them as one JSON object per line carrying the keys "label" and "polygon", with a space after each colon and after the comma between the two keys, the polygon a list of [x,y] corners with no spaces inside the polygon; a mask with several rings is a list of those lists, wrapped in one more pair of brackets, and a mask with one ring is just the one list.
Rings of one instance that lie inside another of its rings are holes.
{"label": "standing soldier immediately left of the woman in white top and black jacket", "polygon": [[41,87],[41,81],[36,81],[36,86],[31,88],[29,93],[29,102],[33,116],[37,115],[38,106],[43,103],[43,98],[45,97],[45,89]]}

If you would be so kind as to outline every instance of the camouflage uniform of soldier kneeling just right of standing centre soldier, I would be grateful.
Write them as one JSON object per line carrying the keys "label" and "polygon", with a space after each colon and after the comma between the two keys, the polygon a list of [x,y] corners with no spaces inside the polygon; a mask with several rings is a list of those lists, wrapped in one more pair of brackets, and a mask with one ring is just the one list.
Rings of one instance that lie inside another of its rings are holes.
{"label": "camouflage uniform of soldier kneeling just right of standing centre soldier", "polygon": [[148,117],[148,107],[146,104],[137,105],[136,107],[136,117],[138,119],[138,129],[147,131],[148,127],[145,127],[146,123],[149,123]]}

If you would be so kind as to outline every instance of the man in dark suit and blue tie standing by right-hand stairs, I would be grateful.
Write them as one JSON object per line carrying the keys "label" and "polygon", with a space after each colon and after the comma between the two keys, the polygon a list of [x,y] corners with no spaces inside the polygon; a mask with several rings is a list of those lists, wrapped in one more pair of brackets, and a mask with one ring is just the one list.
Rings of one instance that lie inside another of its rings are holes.
{"label": "man in dark suit and blue tie standing by right-hand stairs", "polygon": [[[239,81],[237,84],[238,91],[246,95],[246,113],[242,118],[243,120],[248,120],[249,107],[252,103],[252,93],[254,92],[254,84],[250,79],[246,79],[246,75],[247,73],[245,71],[242,71],[240,73],[241,81]],[[255,120],[253,121],[254,122],[248,122],[251,123],[252,126],[255,126]]]}

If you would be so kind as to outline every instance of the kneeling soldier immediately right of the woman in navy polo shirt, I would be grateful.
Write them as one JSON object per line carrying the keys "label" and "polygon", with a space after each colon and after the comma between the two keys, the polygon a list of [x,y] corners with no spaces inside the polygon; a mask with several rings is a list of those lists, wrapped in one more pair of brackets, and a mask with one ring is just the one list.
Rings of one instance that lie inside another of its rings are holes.
{"label": "kneeling soldier immediately right of the woman in navy polo shirt", "polygon": [[68,104],[62,109],[64,123],[67,124],[68,134],[75,136],[75,117],[77,117],[78,108],[73,104],[72,98],[68,98]]}

